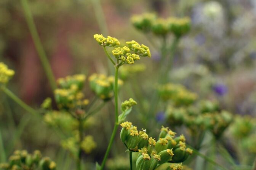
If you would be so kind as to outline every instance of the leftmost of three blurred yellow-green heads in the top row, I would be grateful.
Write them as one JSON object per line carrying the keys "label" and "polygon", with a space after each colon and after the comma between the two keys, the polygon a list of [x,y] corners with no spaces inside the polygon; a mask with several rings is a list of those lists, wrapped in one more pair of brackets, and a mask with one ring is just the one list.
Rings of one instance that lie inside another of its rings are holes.
{"label": "leftmost of three blurred yellow-green heads in the top row", "polygon": [[148,32],[151,29],[152,23],[157,18],[154,13],[144,13],[141,15],[134,15],[131,17],[131,23],[138,30]]}

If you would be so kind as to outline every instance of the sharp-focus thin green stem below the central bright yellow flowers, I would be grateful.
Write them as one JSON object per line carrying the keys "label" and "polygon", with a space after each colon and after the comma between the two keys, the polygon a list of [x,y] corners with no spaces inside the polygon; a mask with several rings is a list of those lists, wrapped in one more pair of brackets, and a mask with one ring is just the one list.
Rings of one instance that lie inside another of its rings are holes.
{"label": "sharp-focus thin green stem below the central bright yellow flowers", "polygon": [[115,139],[115,134],[117,133],[117,129],[118,129],[118,66],[115,66],[115,85],[114,85],[114,94],[115,94],[115,126],[114,129],[112,131],[112,135],[110,137],[110,141],[109,141],[109,145],[107,146],[107,151],[105,153],[104,159],[102,161],[101,164],[101,170],[103,170],[106,161],[107,161],[107,157],[109,155],[109,151],[112,147],[112,144],[114,142]]}

